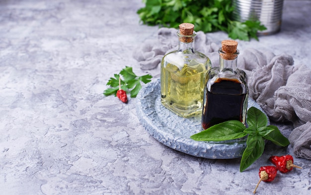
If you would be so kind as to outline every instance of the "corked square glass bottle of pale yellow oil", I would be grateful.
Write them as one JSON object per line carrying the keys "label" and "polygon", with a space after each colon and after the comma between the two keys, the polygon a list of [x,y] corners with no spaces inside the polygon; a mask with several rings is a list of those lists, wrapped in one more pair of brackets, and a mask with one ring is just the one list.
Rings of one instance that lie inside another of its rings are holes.
{"label": "corked square glass bottle of pale yellow oil", "polygon": [[211,68],[210,59],[194,50],[193,29],[193,24],[180,24],[178,50],[161,61],[161,103],[181,117],[202,112],[205,74]]}

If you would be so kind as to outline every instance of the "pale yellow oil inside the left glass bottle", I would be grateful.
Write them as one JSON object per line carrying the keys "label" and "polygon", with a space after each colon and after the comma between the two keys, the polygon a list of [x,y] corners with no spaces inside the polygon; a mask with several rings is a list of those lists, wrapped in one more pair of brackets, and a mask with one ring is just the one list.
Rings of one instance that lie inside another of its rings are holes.
{"label": "pale yellow oil inside the left glass bottle", "polygon": [[161,102],[181,117],[202,112],[206,65],[166,64],[161,68]]}

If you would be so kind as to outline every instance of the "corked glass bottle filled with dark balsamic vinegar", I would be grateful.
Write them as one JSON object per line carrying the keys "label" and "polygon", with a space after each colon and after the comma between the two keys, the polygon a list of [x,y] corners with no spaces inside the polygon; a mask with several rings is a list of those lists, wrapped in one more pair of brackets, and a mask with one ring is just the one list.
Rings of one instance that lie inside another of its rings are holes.
{"label": "corked glass bottle filled with dark balsamic vinegar", "polygon": [[204,86],[202,128],[237,120],[245,125],[248,88],[246,73],[236,68],[237,42],[222,41],[219,49],[220,65],[211,68],[206,74]]}

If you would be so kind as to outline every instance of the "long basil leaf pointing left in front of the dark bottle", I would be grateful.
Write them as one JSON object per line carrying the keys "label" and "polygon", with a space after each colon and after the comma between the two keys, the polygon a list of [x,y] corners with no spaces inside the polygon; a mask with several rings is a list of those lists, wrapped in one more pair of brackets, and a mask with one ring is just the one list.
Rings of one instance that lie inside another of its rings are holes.
{"label": "long basil leaf pointing left in front of the dark bottle", "polygon": [[239,121],[226,121],[192,135],[196,141],[224,141],[244,137],[245,126]]}

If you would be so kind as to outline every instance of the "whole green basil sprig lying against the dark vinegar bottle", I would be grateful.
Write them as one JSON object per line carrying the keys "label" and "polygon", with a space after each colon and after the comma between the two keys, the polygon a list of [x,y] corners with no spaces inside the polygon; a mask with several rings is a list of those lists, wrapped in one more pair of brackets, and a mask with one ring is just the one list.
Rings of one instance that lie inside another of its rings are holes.
{"label": "whole green basil sprig lying against the dark vinegar bottle", "polygon": [[283,147],[290,144],[276,126],[267,126],[267,117],[255,107],[248,109],[246,123],[248,128],[239,121],[227,121],[196,133],[191,138],[197,141],[224,141],[247,136],[246,148],[240,162],[240,172],[262,155],[265,139]]}

